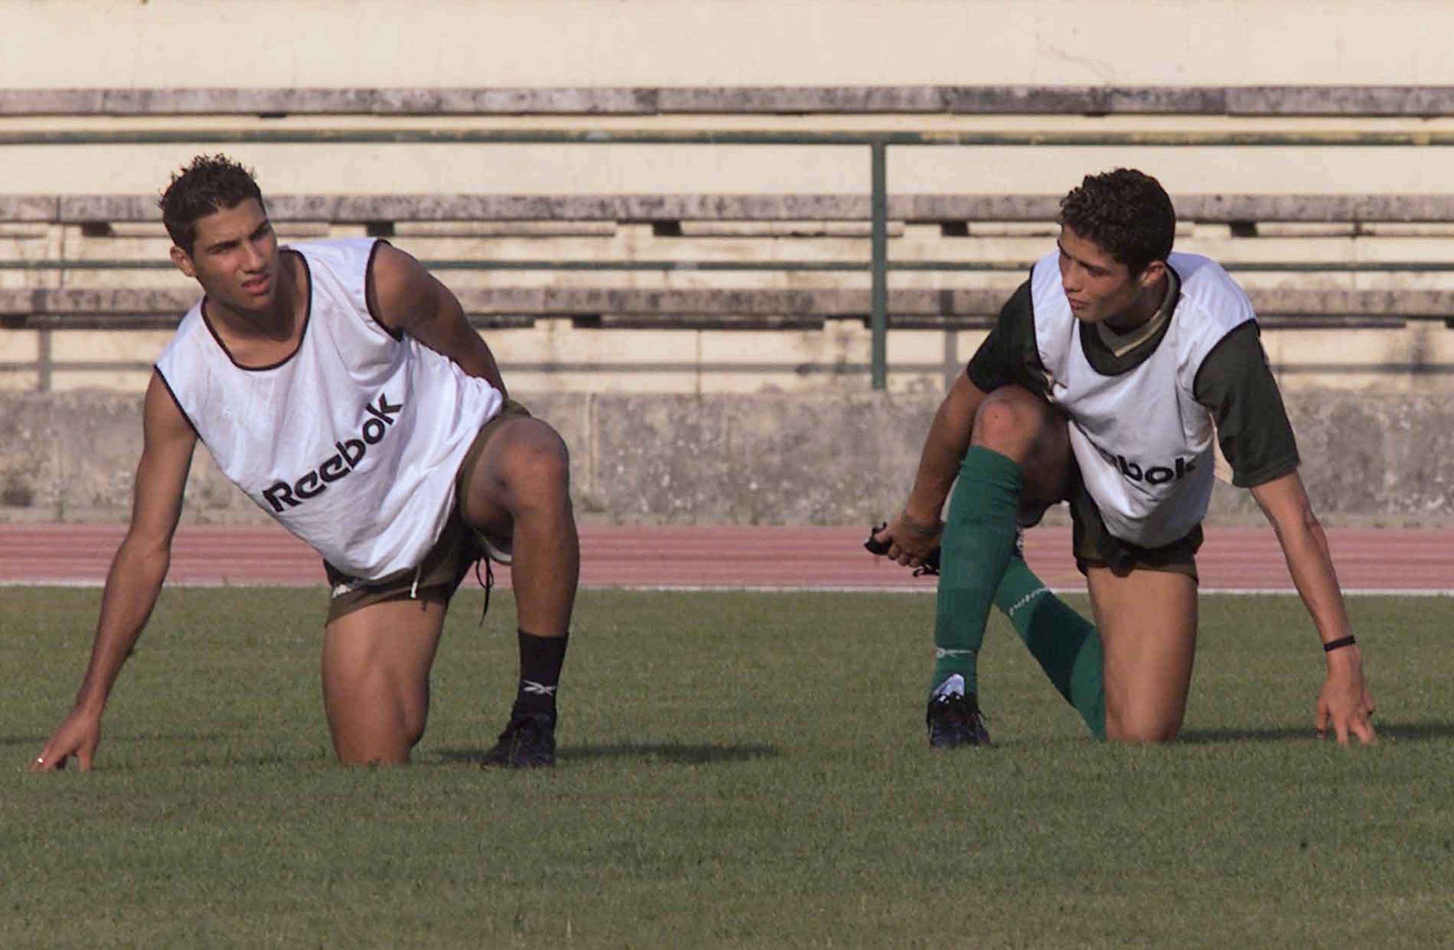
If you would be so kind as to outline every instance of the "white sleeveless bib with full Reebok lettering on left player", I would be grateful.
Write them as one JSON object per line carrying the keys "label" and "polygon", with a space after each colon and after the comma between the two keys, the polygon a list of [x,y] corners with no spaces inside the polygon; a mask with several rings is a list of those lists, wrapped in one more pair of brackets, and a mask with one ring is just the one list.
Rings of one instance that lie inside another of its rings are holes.
{"label": "white sleeveless bib with full Reebok lettering on left player", "polygon": [[[503,397],[368,309],[369,238],[292,245],[308,273],[297,352],[238,366],[199,301],[157,360],[217,466],[345,574],[416,567],[454,506],[455,474]],[[286,251],[284,251],[286,253]]]}

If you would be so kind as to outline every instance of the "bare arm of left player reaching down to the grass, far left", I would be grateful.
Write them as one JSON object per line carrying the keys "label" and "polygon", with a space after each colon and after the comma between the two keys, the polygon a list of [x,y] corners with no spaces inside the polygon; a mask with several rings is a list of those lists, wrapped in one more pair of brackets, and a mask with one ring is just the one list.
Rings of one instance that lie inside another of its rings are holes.
{"label": "bare arm of left player reaching down to the grass, far left", "polygon": [[32,771],[64,768],[74,755],[92,766],[100,744],[100,716],[121,667],[141,636],[172,564],[172,536],[182,514],[182,491],[196,433],[182,415],[166,383],[153,373],[142,410],[142,449],[126,537],[112,558],[102,594],[100,620],[86,678],[71,713],[31,763]]}

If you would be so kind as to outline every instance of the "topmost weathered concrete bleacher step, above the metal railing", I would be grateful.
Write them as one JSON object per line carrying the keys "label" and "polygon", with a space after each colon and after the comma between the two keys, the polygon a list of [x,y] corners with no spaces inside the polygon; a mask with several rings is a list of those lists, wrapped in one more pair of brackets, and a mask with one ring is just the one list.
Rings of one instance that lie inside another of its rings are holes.
{"label": "topmost weathered concrete bleacher step, above the metal railing", "polygon": [[1447,116],[1450,86],[582,86],[0,89],[6,116]]}

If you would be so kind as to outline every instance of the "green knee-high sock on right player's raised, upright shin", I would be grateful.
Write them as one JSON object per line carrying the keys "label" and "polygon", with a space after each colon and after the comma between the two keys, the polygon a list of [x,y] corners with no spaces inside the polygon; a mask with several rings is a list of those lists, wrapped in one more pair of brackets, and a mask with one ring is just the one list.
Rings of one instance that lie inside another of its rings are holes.
{"label": "green knee-high sock on right player's raised, upright shin", "polygon": [[974,446],[960,463],[939,555],[931,696],[952,675],[964,678],[967,693],[977,691],[974,674],[984,622],[1015,552],[1021,481],[1019,465],[990,449]]}

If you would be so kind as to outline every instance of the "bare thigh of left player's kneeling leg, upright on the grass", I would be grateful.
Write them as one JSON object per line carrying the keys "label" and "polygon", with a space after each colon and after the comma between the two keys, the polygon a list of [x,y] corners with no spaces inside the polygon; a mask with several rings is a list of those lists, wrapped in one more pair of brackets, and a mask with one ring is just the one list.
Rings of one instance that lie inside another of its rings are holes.
{"label": "bare thigh of left player's kneeling leg, upright on the grass", "polygon": [[409,761],[429,716],[429,667],[445,607],[438,594],[388,600],[329,623],[323,705],[340,761]]}

